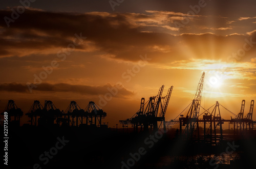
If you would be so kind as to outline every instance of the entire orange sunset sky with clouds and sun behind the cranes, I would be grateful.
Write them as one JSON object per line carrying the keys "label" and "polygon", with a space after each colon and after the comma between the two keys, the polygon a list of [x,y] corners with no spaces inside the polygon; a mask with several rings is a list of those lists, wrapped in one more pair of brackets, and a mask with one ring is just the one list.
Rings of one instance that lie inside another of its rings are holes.
{"label": "entire orange sunset sky with clouds and sun behind the cranes", "polygon": [[[0,111],[8,100],[65,110],[94,101],[115,126],[140,99],[174,86],[166,120],[193,99],[245,114],[256,97],[255,1],[5,1],[0,3]],[[26,7],[26,8],[25,8]],[[230,119],[227,110],[222,117]],[[25,116],[25,115],[24,115]],[[255,116],[253,116],[255,120]],[[23,123],[28,123],[24,117]]]}

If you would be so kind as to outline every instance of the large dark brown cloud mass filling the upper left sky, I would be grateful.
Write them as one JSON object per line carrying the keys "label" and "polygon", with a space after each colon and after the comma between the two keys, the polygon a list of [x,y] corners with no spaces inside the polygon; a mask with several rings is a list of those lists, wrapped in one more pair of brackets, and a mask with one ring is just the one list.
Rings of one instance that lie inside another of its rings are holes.
{"label": "large dark brown cloud mass filling the upper left sky", "polygon": [[[11,10],[0,11],[1,17],[9,15]],[[157,21],[155,16],[144,14],[75,14],[26,10],[9,28],[6,27],[5,21],[1,20],[0,26],[4,27],[0,32],[1,53],[2,57],[56,54],[59,49],[67,48],[67,45],[73,42],[74,34],[82,33],[82,36],[87,36],[88,39],[85,44],[76,46],[76,49],[103,51],[114,54],[116,58],[133,50],[134,58],[130,53],[127,55],[130,55],[129,60],[134,60],[138,55],[145,53],[141,50],[145,51],[146,46],[170,44],[169,39],[173,37],[163,33],[141,32],[145,27],[177,31],[177,28],[169,25],[152,24],[154,21]],[[150,22],[152,23],[149,24]]]}

